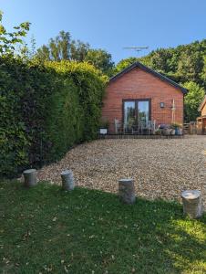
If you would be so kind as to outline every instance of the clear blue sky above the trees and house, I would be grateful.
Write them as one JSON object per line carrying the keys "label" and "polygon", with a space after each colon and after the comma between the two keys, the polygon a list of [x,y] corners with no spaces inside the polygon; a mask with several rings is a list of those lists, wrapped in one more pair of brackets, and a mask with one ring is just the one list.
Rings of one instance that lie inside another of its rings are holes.
{"label": "clear blue sky above the trees and house", "polygon": [[[0,0],[0,9],[8,29],[31,22],[37,46],[65,30],[116,62],[206,38],[206,0]],[[137,54],[127,46],[149,50]]]}

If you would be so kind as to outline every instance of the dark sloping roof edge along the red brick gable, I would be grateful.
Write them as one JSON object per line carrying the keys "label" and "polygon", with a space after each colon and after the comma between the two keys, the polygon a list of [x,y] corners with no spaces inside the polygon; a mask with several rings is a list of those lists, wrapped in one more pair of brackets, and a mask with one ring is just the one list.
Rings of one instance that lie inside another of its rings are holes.
{"label": "dark sloping roof edge along the red brick gable", "polygon": [[171,86],[179,89],[182,91],[183,94],[186,94],[188,92],[187,89],[181,87],[178,83],[174,82],[173,80],[167,78],[166,76],[160,74],[159,72],[146,67],[145,65],[139,63],[139,62],[135,62],[133,64],[131,64],[129,67],[121,70],[120,72],[118,72],[118,74],[116,74],[115,76],[113,76],[111,79],[109,79],[109,82],[115,81],[116,79],[118,79],[119,77],[121,77],[122,75],[124,75],[125,73],[128,73],[131,69],[133,68],[141,68],[149,73],[151,73],[152,75],[154,75],[155,77],[158,77],[159,79],[162,79],[166,82],[168,82]]}

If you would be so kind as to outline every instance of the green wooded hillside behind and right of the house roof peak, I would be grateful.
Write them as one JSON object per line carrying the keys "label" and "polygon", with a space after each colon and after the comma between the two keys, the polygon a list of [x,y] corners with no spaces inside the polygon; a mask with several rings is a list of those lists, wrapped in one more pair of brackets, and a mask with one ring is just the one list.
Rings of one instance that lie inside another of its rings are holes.
{"label": "green wooded hillside behind and right of the house roof peak", "polygon": [[142,58],[126,58],[118,62],[116,72],[127,68],[136,60],[153,68],[177,82],[194,81],[206,87],[204,68],[206,56],[206,39],[189,45],[170,48],[158,48]]}

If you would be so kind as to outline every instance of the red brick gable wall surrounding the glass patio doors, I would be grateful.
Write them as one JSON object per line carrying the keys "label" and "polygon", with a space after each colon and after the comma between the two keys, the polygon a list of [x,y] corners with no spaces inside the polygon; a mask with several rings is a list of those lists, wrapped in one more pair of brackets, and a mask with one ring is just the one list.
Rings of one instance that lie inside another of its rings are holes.
{"label": "red brick gable wall surrounding the glass patio doors", "polygon": [[[171,102],[175,100],[176,122],[183,123],[183,93],[149,72],[133,68],[120,78],[110,82],[102,109],[102,117],[109,121],[109,132],[114,131],[114,120],[122,120],[123,99],[150,99],[151,120],[157,124],[171,123]],[[160,108],[160,102],[165,107]]]}

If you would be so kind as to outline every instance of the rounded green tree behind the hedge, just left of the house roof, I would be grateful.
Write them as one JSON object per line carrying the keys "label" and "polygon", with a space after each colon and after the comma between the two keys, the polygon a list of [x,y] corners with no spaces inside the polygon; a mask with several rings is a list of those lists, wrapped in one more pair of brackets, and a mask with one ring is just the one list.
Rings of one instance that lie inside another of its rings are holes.
{"label": "rounded green tree behind the hedge, just left of the house roof", "polygon": [[88,49],[85,61],[92,64],[95,68],[100,69],[108,76],[112,75],[114,62],[111,55],[103,49]]}

